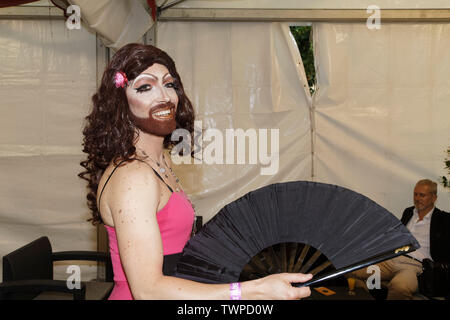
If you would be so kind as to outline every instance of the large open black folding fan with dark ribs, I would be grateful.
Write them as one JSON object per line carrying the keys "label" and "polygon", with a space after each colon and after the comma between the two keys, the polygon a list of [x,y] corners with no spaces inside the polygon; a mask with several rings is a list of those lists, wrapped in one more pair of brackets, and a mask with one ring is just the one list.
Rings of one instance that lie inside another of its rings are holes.
{"label": "large open black folding fan with dark ribs", "polygon": [[278,183],[222,208],[186,244],[175,276],[230,283],[302,272],[314,278],[295,285],[309,286],[418,248],[394,215],[361,194],[324,183]]}

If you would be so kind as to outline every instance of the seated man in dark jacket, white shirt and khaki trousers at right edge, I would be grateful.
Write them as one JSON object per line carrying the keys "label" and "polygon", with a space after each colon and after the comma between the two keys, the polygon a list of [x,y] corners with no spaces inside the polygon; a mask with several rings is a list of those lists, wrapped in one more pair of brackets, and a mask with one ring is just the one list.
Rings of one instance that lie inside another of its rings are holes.
{"label": "seated man in dark jacket, white shirt and khaki trousers at right edge", "polygon": [[[420,248],[405,256],[399,256],[377,264],[381,281],[388,281],[387,299],[412,299],[418,290],[417,275],[422,271],[422,260],[450,261],[450,214],[434,206],[437,184],[425,179],[414,188],[414,206],[406,208],[401,221],[417,239]],[[348,275],[360,280],[371,276],[367,269]]]}

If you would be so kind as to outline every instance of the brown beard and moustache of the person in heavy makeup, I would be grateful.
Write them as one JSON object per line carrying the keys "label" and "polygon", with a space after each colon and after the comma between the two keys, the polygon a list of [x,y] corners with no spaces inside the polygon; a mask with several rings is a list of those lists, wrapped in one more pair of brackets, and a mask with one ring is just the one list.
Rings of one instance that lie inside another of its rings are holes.
{"label": "brown beard and moustache of the person in heavy makeup", "polygon": [[[168,115],[157,116],[155,113],[170,110]],[[151,108],[148,117],[140,118],[130,112],[131,122],[141,131],[159,137],[171,134],[177,128],[176,108],[172,102],[159,104]]]}

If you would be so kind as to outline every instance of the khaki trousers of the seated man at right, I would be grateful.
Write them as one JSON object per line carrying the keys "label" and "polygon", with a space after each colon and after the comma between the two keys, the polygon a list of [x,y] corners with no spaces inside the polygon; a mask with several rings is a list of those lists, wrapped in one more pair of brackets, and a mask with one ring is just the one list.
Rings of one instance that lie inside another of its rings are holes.
{"label": "khaki trousers of the seated man at right", "polygon": [[[388,282],[388,300],[410,300],[418,290],[417,275],[422,272],[422,263],[419,261],[399,256],[394,259],[378,263],[380,268],[380,280]],[[356,278],[358,286],[367,289],[366,280],[373,275],[373,271],[367,273],[367,268],[353,271],[347,278]]]}

